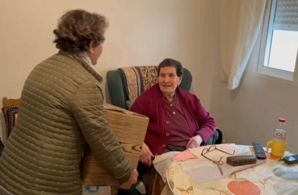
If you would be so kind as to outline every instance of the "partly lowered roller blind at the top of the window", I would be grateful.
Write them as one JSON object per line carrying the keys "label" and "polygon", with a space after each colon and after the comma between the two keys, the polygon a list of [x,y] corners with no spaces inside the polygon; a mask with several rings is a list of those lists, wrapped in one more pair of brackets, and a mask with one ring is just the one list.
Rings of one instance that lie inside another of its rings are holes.
{"label": "partly lowered roller blind at the top of the window", "polygon": [[298,1],[276,0],[274,24],[298,25]]}

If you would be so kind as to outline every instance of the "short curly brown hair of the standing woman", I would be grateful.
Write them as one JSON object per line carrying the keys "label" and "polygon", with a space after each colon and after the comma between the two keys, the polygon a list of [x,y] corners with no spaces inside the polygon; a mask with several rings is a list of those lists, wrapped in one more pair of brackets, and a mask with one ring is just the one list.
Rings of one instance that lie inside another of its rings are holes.
{"label": "short curly brown hair of the standing woman", "polygon": [[97,47],[104,41],[109,22],[104,15],[81,9],[68,11],[60,18],[54,29],[56,48],[66,52],[88,51],[91,41]]}

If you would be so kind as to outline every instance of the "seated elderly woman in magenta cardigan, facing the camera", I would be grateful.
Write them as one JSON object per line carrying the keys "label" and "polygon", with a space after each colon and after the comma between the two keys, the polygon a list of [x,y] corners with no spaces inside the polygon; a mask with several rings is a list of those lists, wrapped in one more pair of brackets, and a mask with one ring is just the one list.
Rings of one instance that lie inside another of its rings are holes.
{"label": "seated elderly woman in magenta cardigan, facing the camera", "polygon": [[163,60],[158,83],[137,97],[130,109],[149,117],[140,154],[143,166],[151,166],[156,155],[200,147],[215,133],[215,120],[198,97],[179,87],[182,76],[180,62]]}

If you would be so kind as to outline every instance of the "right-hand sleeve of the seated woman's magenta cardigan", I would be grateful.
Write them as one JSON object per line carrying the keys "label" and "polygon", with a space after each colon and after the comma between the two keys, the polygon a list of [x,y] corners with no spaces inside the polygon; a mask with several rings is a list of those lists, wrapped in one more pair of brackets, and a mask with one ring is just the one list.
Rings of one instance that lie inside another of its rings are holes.
{"label": "right-hand sleeve of the seated woman's magenta cardigan", "polygon": [[[209,112],[201,105],[200,100],[198,97],[195,97],[195,110],[194,115],[196,116],[196,121],[198,122],[198,132],[197,134],[203,137],[203,142],[207,142],[212,135],[215,134],[216,131],[216,124],[213,117],[210,115]],[[204,144],[202,143],[202,144]]]}

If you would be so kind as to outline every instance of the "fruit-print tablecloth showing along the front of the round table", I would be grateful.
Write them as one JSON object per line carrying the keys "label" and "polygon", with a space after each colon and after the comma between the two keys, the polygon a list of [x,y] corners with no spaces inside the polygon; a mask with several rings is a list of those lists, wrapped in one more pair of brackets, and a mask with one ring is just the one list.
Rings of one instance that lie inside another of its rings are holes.
{"label": "fruit-print tablecloth showing along the front of the round table", "polygon": [[[243,155],[252,154],[249,146],[236,145],[236,148]],[[172,161],[166,173],[168,194],[298,194],[298,166],[287,166],[269,153],[266,156],[266,162],[259,166],[203,183],[194,182],[179,162]]]}

